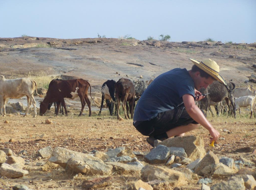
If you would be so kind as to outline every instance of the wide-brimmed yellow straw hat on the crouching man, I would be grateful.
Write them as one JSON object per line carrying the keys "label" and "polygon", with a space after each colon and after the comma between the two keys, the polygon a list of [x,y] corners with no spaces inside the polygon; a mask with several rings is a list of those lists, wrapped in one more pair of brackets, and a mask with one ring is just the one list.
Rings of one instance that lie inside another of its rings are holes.
{"label": "wide-brimmed yellow straw hat on the crouching man", "polygon": [[215,78],[217,81],[223,83],[224,85],[227,85],[225,80],[221,75],[219,75],[219,65],[211,59],[206,59],[201,62],[194,60],[190,58],[195,65],[197,65],[200,69],[211,75],[213,78]]}

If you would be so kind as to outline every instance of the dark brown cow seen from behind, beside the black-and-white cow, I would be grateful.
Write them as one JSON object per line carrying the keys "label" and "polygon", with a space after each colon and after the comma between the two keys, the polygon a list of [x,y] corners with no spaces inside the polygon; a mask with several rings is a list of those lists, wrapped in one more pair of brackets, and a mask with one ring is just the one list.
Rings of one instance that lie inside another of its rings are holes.
{"label": "dark brown cow seen from behind, beside the black-and-white cow", "polygon": [[[116,84],[116,93],[117,93],[117,118],[120,118],[119,115],[119,107],[120,107],[120,100],[122,101],[123,112],[125,114],[126,119],[129,118],[129,108],[131,113],[131,119],[133,119],[133,109],[134,109],[134,102],[135,102],[135,88],[133,82],[129,79],[121,78],[117,81]],[[129,103],[129,108],[126,106],[126,103]],[[125,111],[126,106],[126,111]]]}

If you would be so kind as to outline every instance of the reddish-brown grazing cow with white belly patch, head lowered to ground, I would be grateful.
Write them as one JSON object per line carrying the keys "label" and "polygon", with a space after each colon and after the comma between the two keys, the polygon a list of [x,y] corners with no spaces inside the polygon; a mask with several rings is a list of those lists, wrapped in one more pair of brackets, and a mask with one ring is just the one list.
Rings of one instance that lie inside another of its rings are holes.
{"label": "reddish-brown grazing cow with white belly patch, head lowered to ground", "polygon": [[[47,107],[50,102],[57,102],[57,108],[55,114],[58,115],[59,106],[62,103],[65,109],[65,115],[67,116],[67,108],[64,98],[74,99],[79,97],[81,100],[82,108],[79,116],[83,113],[85,103],[89,107],[89,116],[91,116],[90,101],[88,98],[88,88],[90,87],[91,96],[91,85],[88,81],[83,79],[72,79],[72,80],[52,80],[49,84],[48,91],[45,99],[40,103],[40,116],[45,114]],[[91,97],[92,98],[92,97]],[[93,98],[92,98],[93,99]]]}

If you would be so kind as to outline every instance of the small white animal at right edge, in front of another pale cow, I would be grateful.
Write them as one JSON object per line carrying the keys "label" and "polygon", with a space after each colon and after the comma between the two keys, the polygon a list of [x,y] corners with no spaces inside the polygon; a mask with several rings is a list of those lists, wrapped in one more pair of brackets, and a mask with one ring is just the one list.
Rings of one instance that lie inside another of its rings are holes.
{"label": "small white animal at right edge, in front of another pale cow", "polygon": [[[253,111],[255,111],[255,97],[254,96],[242,96],[239,98],[235,98],[235,110],[239,109],[239,114],[241,115],[240,108],[247,108],[250,106],[251,116],[253,115]],[[250,116],[250,118],[251,118]]]}

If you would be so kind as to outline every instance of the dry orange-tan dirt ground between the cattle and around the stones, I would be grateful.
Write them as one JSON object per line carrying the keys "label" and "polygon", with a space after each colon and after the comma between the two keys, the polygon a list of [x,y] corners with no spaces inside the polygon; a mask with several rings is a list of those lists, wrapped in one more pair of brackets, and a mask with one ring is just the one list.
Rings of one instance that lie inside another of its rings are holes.
{"label": "dry orange-tan dirt ground between the cattle and around the stones", "polygon": [[[16,155],[22,150],[27,154],[23,155],[29,170],[29,175],[20,179],[0,179],[0,189],[11,189],[16,184],[24,184],[31,189],[82,189],[83,180],[93,177],[83,175],[67,175],[63,169],[53,171],[41,171],[41,166],[35,166],[37,162],[45,163],[47,159],[37,160],[36,152],[43,147],[51,146],[52,148],[60,146],[69,150],[83,152],[98,150],[105,152],[108,148],[120,146],[129,146],[134,151],[149,151],[150,145],[146,143],[146,137],[141,135],[133,127],[131,120],[118,121],[115,117],[103,116],[77,117],[78,111],[70,110],[68,117],[54,117],[53,112],[48,112],[46,116],[33,118],[31,115],[22,117],[21,115],[7,115],[0,117],[0,146],[10,148]],[[31,112],[32,114],[32,112]],[[53,124],[45,124],[45,119],[50,119]],[[9,123],[4,123],[8,120]],[[239,156],[256,163],[255,155],[249,153],[236,153],[235,150],[242,147],[256,148],[256,119],[226,118],[215,117],[209,118],[213,126],[220,132],[223,140],[217,143],[214,153],[218,156],[232,157],[238,160]],[[230,133],[224,132],[227,129]],[[209,143],[208,131],[200,127],[197,130],[187,133],[186,135],[200,135],[204,138],[205,148]],[[140,139],[134,142],[132,137]],[[14,142],[8,142],[10,138]],[[40,140],[41,139],[41,140]],[[35,143],[39,143],[36,145]],[[143,161],[143,160],[141,160]],[[184,166],[185,167],[185,166]],[[116,179],[111,187],[105,189],[126,189],[129,184],[139,179],[139,175],[118,175],[113,174]],[[222,179],[225,180],[225,179]],[[215,179],[213,183],[220,180]],[[182,186],[184,190],[201,188],[200,185],[194,184]],[[104,189],[104,188],[102,188]]]}

